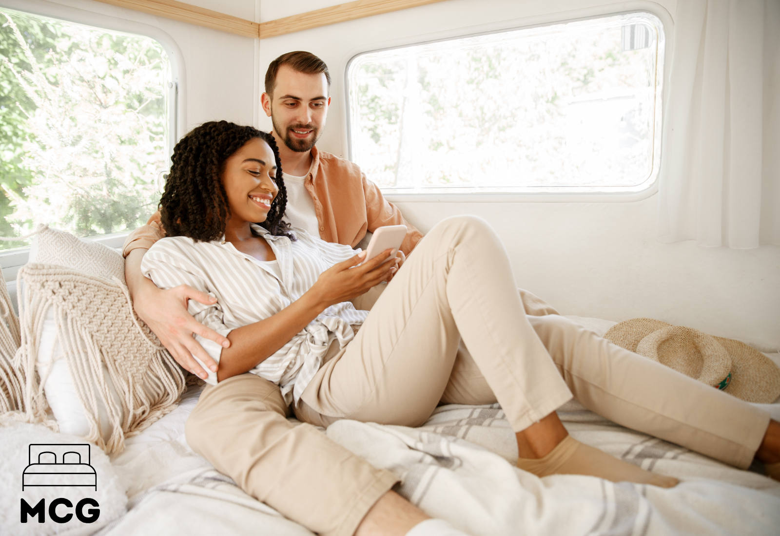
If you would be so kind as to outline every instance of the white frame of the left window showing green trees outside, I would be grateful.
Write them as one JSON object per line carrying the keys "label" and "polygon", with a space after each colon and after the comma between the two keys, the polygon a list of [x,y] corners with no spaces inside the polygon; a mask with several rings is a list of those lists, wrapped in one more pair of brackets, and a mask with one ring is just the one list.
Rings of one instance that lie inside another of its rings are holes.
{"label": "white frame of the left window showing green trees outside", "polygon": [[[40,0],[0,0],[0,7],[5,9],[14,9],[20,12],[27,12],[30,15],[44,16],[52,19],[60,19],[65,22],[83,24],[92,26],[101,30],[134,33],[136,35],[150,37],[157,41],[165,53],[168,55],[168,61],[171,64],[172,83],[168,87],[168,103],[171,114],[168,117],[168,158],[173,154],[173,147],[181,136],[183,136],[183,125],[186,125],[185,107],[185,72],[184,56],[179,49],[176,41],[156,26],[137,22],[136,20],[120,19],[116,16],[105,15],[103,13],[85,11],[76,9],[67,5],[52,4],[50,2],[41,2]],[[122,231],[112,233],[111,235],[99,235],[97,237],[86,237],[85,239],[93,242],[108,245],[113,249],[119,249],[131,231]],[[16,248],[5,252],[0,252],[0,267],[6,281],[16,280],[16,273],[27,263],[30,257],[30,245],[23,248]],[[9,290],[11,290],[9,288]]]}

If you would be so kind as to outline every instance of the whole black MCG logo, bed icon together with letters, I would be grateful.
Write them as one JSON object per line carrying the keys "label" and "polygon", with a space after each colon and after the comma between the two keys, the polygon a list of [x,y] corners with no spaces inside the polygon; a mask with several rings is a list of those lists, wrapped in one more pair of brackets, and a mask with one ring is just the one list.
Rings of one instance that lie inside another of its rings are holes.
{"label": "whole black MCG logo, bed icon together with letters", "polygon": [[[22,491],[36,486],[73,486],[97,491],[97,474],[90,465],[89,443],[33,443],[29,448],[28,465],[22,473]],[[67,512],[66,509],[71,508],[73,502],[69,499],[51,499],[48,504],[48,517],[55,523],[67,523],[73,518],[73,513]],[[93,523],[100,517],[100,505],[89,497],[77,502],[73,510],[82,523]],[[30,506],[22,498],[20,522],[27,523],[28,517],[37,517],[38,523],[44,523],[46,511],[45,498],[35,506]]]}

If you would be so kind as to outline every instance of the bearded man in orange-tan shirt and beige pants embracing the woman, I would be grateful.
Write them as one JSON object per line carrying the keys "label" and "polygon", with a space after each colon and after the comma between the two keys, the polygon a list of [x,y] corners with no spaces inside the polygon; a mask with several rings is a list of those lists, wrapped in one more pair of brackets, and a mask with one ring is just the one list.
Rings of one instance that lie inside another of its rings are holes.
{"label": "bearded man in orange-tan shirt and beige pants embracing the woman", "polygon": [[[330,242],[357,245],[367,231],[405,224],[401,250],[422,238],[355,164],[317,150],[330,104],[330,74],[320,58],[290,52],[268,67],[263,109],[271,116],[288,194],[285,220]],[[138,316],[185,369],[204,377],[193,358],[217,364],[194,335],[229,347],[229,340],[197,323],[187,302],[213,300],[190,287],[161,291],[140,273],[144,252],[162,238],[159,213],[129,235],[126,280]],[[364,306],[371,305],[371,297]],[[451,534],[391,491],[397,478],[360,459],[310,425],[287,420],[289,407],[273,383],[252,374],[208,386],[187,421],[187,440],[246,492],[320,534]]]}

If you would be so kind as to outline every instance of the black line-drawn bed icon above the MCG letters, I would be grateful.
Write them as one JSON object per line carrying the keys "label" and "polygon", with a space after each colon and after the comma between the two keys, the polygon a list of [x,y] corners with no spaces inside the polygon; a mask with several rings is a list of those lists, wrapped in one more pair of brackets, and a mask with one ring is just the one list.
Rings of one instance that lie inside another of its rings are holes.
{"label": "black line-drawn bed icon above the MCG letters", "polygon": [[79,486],[97,491],[89,443],[33,443],[28,463],[22,474],[22,491],[30,486]]}

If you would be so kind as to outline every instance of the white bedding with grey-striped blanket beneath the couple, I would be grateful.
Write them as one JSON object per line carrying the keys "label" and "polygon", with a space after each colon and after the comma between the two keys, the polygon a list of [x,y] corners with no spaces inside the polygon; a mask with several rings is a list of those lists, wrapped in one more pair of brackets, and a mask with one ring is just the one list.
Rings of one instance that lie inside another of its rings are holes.
{"label": "white bedding with grey-striped blanket beneath the couple", "polygon": [[[612,322],[570,317],[604,333]],[[780,363],[780,354],[768,354]],[[243,493],[193,453],[184,422],[200,389],[139,436],[112,464],[129,512],[101,534],[311,534]],[[780,404],[764,405],[780,418]],[[676,488],[519,471],[514,436],[497,404],[442,406],[420,428],[339,421],[325,432],[402,478],[399,492],[470,534],[778,534],[780,483],[739,471],[607,421],[575,402],[569,432],[641,467],[681,478]]]}

